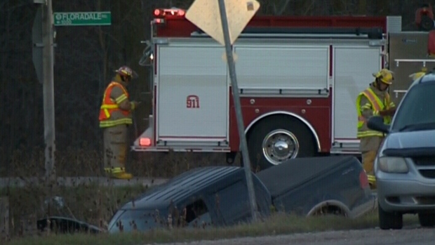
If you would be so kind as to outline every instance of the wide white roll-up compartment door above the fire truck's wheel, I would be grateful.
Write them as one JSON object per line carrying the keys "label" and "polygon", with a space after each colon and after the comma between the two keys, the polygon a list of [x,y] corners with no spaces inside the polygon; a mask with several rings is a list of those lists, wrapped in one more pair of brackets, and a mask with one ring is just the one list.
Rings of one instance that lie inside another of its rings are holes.
{"label": "wide white roll-up compartment door above the fire truck's wheel", "polygon": [[239,88],[283,94],[328,91],[329,46],[256,45],[235,47]]}

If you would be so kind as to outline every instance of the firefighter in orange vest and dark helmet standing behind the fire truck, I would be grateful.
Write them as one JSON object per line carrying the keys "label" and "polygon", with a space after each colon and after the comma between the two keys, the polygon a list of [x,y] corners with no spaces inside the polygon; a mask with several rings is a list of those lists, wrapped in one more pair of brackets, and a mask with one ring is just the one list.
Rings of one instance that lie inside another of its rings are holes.
{"label": "firefighter in orange vest and dark helmet standing behind the fire truck", "polygon": [[139,102],[130,102],[126,86],[138,75],[130,67],[116,69],[116,75],[107,86],[100,107],[100,128],[103,128],[104,167],[111,178],[131,179],[127,173],[126,155],[128,126],[133,124],[131,113]]}

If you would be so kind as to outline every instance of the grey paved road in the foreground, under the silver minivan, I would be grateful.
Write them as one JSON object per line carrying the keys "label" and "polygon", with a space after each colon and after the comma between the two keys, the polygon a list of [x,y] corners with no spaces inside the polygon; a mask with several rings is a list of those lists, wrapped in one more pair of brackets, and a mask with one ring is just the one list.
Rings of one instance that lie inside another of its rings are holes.
{"label": "grey paved road in the foreground, under the silver minivan", "polygon": [[196,241],[175,245],[433,245],[435,229],[404,227],[403,230],[350,230],[274,237],[250,237],[219,241]]}

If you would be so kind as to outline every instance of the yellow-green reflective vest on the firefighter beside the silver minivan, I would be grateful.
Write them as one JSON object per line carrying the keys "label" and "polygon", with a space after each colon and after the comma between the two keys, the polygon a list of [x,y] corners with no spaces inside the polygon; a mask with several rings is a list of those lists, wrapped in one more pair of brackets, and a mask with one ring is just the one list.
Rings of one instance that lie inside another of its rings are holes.
{"label": "yellow-green reflective vest on the firefighter beside the silver minivan", "polygon": [[[358,133],[356,133],[357,138],[370,137],[370,136],[380,136],[383,137],[384,133],[379,131],[373,131],[367,127],[367,119],[363,117],[361,112],[361,98],[366,96],[373,110],[373,115],[376,116],[381,110],[388,110],[390,104],[389,94],[385,93],[385,100],[382,102],[379,97],[373,92],[371,88],[367,88],[365,91],[361,92],[356,98],[356,112],[358,113]],[[391,117],[384,117],[384,124],[391,124]]]}

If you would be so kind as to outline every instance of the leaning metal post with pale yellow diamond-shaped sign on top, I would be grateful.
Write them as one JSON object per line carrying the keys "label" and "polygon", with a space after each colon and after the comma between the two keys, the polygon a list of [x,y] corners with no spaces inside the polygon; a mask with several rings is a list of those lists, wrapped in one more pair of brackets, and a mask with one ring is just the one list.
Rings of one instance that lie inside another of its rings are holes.
{"label": "leaning metal post with pale yellow diamond-shaped sign on top", "polygon": [[260,8],[260,3],[255,0],[196,0],[186,12],[187,20],[193,22],[210,35],[210,37],[213,37],[222,46],[225,46],[253,221],[257,220],[257,202],[255,201],[252,172],[250,171],[248,144],[246,143],[245,128],[241,114],[239,86],[237,86],[236,65],[234,64],[232,44],[234,44],[234,41],[236,41],[246,25],[248,25],[248,22],[253,18],[258,8]]}

